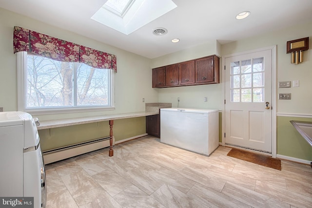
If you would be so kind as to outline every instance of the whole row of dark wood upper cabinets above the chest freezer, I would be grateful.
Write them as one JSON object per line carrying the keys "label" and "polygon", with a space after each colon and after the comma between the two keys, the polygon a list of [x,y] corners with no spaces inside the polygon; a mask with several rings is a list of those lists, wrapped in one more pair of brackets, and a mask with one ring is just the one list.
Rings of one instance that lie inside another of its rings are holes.
{"label": "whole row of dark wood upper cabinets above the chest freezer", "polygon": [[[219,83],[219,57],[197,58],[153,69],[153,88]],[[178,81],[177,81],[178,80]]]}

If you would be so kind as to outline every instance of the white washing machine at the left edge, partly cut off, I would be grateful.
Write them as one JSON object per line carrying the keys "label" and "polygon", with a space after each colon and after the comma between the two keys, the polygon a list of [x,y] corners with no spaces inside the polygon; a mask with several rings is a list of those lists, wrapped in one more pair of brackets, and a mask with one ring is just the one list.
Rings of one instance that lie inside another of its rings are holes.
{"label": "white washing machine at the left edge, partly cut off", "polygon": [[45,208],[44,163],[29,113],[0,112],[0,167],[0,197],[34,197],[34,208]]}

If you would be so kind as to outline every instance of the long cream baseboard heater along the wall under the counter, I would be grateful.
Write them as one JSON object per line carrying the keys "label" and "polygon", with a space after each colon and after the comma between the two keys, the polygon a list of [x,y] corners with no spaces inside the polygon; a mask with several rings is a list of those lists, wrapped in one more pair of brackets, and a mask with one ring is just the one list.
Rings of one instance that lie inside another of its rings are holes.
{"label": "long cream baseboard heater along the wall under the counter", "polygon": [[[115,145],[115,137],[113,136],[113,145]],[[54,150],[43,151],[44,164],[53,163],[59,160],[64,160],[70,157],[84,154],[90,151],[96,151],[102,148],[109,147],[109,136],[95,139],[87,142],[78,143],[75,145],[69,145]]]}

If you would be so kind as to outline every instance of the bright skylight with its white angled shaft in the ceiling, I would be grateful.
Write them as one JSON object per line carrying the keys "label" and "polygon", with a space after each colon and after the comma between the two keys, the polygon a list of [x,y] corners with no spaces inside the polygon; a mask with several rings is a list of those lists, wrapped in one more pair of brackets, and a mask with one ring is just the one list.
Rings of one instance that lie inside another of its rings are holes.
{"label": "bright skylight with its white angled shaft in the ceiling", "polygon": [[91,19],[129,35],[174,8],[172,0],[107,0]]}

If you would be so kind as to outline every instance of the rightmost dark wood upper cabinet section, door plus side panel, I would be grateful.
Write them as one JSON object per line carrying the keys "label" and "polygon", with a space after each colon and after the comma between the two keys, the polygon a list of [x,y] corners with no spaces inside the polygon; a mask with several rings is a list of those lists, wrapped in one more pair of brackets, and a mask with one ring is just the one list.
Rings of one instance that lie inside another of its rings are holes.
{"label": "rightmost dark wood upper cabinet section, door plus side panel", "polygon": [[219,57],[196,59],[195,68],[196,83],[219,83]]}

